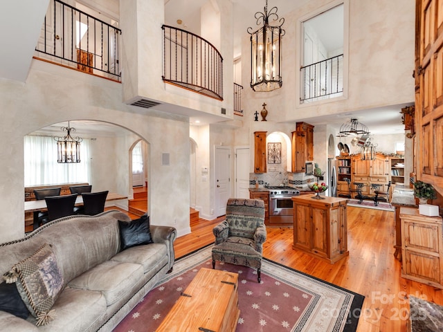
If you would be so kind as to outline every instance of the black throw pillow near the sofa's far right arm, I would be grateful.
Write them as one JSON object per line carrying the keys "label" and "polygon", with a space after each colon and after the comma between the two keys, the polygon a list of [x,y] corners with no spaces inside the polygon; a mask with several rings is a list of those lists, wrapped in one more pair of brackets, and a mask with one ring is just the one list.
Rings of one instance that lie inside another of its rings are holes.
{"label": "black throw pillow near the sofa's far right arm", "polygon": [[121,250],[140,246],[141,244],[154,243],[150,231],[150,216],[143,215],[133,221],[118,221],[120,228]]}

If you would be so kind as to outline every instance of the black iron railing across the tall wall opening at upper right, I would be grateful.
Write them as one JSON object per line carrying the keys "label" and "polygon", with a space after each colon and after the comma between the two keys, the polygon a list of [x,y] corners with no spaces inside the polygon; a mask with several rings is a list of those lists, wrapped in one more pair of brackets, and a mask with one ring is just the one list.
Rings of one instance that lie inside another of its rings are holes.
{"label": "black iron railing across the tall wall opening at upper right", "polygon": [[343,54],[302,66],[301,102],[312,102],[343,95]]}

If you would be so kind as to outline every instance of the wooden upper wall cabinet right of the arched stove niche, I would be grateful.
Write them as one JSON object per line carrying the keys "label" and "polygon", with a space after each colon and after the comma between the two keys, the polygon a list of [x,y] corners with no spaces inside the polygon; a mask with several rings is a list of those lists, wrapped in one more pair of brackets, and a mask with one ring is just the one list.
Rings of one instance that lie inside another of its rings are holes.
{"label": "wooden upper wall cabinet right of the arched stove niche", "polygon": [[304,173],[306,161],[314,160],[314,126],[297,122],[292,132],[292,172]]}

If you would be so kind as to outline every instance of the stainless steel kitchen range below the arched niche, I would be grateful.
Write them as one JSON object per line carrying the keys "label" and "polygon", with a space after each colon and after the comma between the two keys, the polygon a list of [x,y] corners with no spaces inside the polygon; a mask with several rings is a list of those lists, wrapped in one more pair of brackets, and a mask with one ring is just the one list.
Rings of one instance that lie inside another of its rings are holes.
{"label": "stainless steel kitchen range below the arched niche", "polygon": [[292,187],[266,187],[269,190],[269,225],[293,225],[292,196],[300,191]]}

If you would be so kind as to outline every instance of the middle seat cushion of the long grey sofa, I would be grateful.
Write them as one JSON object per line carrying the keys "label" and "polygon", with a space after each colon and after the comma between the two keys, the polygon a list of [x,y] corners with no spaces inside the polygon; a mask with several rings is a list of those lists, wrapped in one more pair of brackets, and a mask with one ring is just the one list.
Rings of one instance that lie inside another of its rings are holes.
{"label": "middle seat cushion of the long grey sofa", "polygon": [[142,278],[143,266],[140,264],[105,261],[72,279],[68,285],[102,293],[109,306],[132,291]]}

